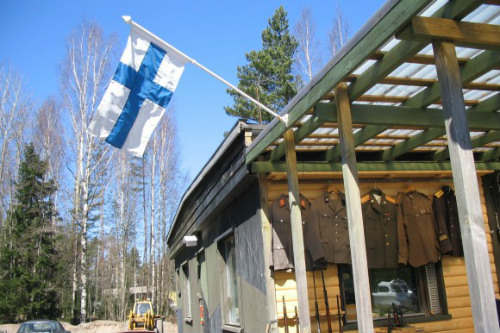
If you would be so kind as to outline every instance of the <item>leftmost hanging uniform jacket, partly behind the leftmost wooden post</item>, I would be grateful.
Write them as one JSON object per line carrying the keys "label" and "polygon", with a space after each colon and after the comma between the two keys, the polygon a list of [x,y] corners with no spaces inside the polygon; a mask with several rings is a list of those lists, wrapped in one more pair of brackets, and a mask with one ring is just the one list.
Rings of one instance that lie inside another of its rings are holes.
{"label": "leftmost hanging uniform jacket, partly behind the leftmost wooden post", "polygon": [[[304,232],[307,227],[305,226],[306,220],[309,215],[311,203],[309,200],[300,195],[300,207],[302,213],[302,226]],[[293,260],[293,242],[292,242],[292,228],[290,224],[290,206],[288,196],[281,194],[271,205],[270,222],[272,227],[271,238],[271,269],[274,270],[289,270],[294,268]],[[304,244],[307,249],[307,244]],[[307,261],[306,267],[310,267],[311,263]]]}

